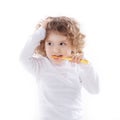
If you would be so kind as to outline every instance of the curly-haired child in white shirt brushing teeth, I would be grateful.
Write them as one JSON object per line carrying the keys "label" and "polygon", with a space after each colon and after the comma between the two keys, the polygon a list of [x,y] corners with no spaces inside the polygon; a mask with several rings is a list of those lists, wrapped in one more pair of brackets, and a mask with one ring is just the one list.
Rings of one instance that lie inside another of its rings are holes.
{"label": "curly-haired child in white shirt brushing teeth", "polygon": [[40,120],[81,120],[81,87],[99,92],[92,65],[81,62],[83,46],[78,23],[64,16],[46,18],[27,41],[21,61],[37,79]]}

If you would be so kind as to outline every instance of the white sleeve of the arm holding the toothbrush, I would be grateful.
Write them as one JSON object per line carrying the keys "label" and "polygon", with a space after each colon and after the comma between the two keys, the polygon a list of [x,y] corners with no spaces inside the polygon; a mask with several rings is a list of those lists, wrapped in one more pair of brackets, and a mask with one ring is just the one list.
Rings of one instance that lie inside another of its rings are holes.
{"label": "white sleeve of the arm holding the toothbrush", "polygon": [[91,64],[81,64],[79,69],[82,86],[92,94],[99,93],[99,77]]}

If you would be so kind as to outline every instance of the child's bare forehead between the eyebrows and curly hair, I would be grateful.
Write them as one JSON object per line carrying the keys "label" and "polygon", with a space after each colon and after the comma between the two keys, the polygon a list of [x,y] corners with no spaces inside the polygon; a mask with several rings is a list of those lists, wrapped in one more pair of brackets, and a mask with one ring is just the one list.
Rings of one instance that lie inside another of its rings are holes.
{"label": "child's bare forehead between the eyebrows and curly hair", "polygon": [[67,37],[59,32],[50,32],[46,38],[46,41],[64,41],[64,42],[70,42]]}

